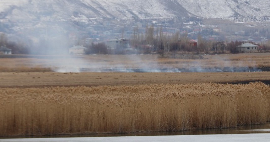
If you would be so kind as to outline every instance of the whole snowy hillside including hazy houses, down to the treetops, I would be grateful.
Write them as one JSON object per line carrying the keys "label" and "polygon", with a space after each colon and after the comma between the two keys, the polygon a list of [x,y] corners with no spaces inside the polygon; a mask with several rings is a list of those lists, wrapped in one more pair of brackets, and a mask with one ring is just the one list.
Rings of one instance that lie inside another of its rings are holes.
{"label": "whole snowy hillside including hazy houses, down to the treetops", "polygon": [[[48,37],[59,41],[62,35],[69,35],[69,41],[73,35],[74,39],[106,40],[121,36],[123,28],[129,38],[132,27],[142,23],[142,33],[147,24],[189,33],[208,28],[200,33],[204,36],[218,35],[213,33],[217,27],[223,28],[224,35],[243,33],[231,39],[247,40],[258,29],[244,33],[246,28],[269,27],[269,6],[270,1],[265,0],[1,0],[0,32],[31,39],[29,44]],[[263,33],[256,40],[268,36]],[[196,37],[195,33],[192,38]]]}

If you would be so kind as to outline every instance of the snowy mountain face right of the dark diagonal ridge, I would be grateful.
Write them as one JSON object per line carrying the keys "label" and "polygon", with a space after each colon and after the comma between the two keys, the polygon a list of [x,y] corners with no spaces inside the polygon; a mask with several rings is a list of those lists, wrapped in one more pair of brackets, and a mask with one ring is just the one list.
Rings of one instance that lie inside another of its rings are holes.
{"label": "snowy mountain face right of the dark diagonal ridge", "polygon": [[203,18],[270,16],[270,1],[266,0],[178,0],[184,8]]}

